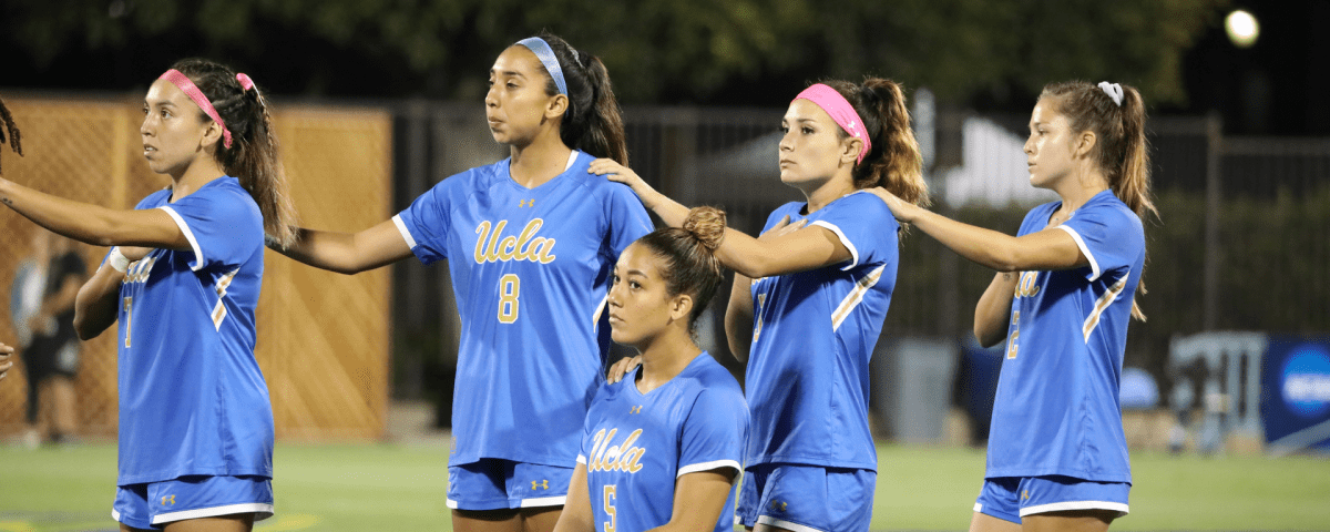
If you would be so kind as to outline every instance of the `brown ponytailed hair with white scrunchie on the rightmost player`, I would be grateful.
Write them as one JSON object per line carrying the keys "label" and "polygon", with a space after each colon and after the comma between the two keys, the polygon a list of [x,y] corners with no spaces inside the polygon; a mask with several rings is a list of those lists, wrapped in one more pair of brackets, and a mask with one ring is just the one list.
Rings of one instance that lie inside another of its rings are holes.
{"label": "brown ponytailed hair with white scrunchie on the rightmost player", "polygon": [[[1064,81],[1048,84],[1040,100],[1067,117],[1073,132],[1095,132],[1093,157],[1123,203],[1144,222],[1148,214],[1158,218],[1150,198],[1150,154],[1145,140],[1145,100],[1130,85]],[[1112,93],[1109,92],[1112,90]],[[1138,291],[1145,294],[1144,277]],[[1145,313],[1132,302],[1132,317],[1145,321]]]}

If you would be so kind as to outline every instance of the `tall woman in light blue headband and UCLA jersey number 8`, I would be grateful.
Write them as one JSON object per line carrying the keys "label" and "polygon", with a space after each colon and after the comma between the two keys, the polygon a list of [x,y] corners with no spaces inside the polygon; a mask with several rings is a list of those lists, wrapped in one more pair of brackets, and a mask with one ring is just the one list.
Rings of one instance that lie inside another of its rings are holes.
{"label": "tall woman in light blue headband and UCLA jersey number 8", "polygon": [[[411,257],[448,259],[462,342],[452,402],[448,507],[459,531],[549,531],[602,379],[610,270],[650,233],[633,193],[587,173],[626,161],[609,74],[545,35],[495,60],[485,117],[509,157],[443,180],[355,234],[301,230],[297,261],[358,273]],[[608,336],[608,335],[606,335]]]}

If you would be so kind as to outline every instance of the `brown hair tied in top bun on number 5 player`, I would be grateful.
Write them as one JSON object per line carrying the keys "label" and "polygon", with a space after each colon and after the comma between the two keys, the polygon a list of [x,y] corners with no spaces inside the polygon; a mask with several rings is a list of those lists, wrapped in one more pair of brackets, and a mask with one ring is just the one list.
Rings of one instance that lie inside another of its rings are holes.
{"label": "brown hair tied in top bun on number 5 player", "polygon": [[725,239],[725,211],[716,207],[693,207],[688,211],[682,227],[657,229],[638,238],[656,257],[665,261],[661,275],[665,278],[665,291],[670,295],[688,294],[693,297],[693,313],[688,317],[688,327],[693,329],[697,317],[716,295],[716,289],[724,281],[721,261],[716,249]]}

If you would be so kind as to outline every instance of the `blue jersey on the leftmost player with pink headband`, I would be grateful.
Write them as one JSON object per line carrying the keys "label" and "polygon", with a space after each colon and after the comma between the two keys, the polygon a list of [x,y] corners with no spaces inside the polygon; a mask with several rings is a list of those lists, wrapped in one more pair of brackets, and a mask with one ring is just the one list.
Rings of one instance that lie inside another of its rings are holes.
{"label": "blue jersey on the leftmost player with pink headband", "polygon": [[273,407],[254,359],[263,215],[239,181],[219,177],[161,209],[189,250],[156,249],[120,287],[120,476],[273,476]]}

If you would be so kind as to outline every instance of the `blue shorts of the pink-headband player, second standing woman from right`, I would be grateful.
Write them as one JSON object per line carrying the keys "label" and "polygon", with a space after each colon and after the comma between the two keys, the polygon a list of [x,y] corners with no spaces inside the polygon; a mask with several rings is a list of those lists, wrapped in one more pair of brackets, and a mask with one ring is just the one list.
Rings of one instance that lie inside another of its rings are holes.
{"label": "blue shorts of the pink-headband player, second standing woman from right", "polygon": [[876,481],[870,469],[753,466],[743,471],[737,521],[794,532],[867,531]]}

